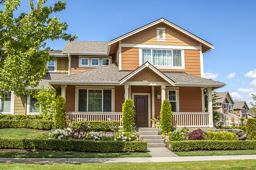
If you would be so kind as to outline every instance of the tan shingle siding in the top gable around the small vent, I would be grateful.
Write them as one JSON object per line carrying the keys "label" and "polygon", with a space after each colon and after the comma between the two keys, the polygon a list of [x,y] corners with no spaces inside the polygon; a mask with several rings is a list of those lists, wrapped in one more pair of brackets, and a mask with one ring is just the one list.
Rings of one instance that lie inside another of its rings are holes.
{"label": "tan shingle siding in the top gable around the small vent", "polygon": [[[156,41],[156,27],[165,27],[165,42]],[[125,38],[122,43],[199,46],[198,42],[162,23]]]}

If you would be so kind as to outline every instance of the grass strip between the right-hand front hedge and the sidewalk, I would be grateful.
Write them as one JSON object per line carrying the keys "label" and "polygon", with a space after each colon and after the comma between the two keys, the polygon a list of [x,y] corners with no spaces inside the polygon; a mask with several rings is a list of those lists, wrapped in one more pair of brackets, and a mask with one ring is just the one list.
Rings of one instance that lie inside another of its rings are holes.
{"label": "grass strip between the right-hand front hedge and the sidewalk", "polygon": [[256,155],[256,149],[174,152],[178,156]]}

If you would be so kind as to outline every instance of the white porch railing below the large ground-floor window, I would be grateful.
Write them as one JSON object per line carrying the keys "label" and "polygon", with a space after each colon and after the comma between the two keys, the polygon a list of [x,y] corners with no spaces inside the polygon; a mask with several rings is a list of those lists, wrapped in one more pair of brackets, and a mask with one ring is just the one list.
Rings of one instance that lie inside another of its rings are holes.
{"label": "white porch railing below the large ground-floor window", "polygon": [[66,112],[67,125],[70,127],[72,122],[81,121],[118,121],[121,127],[122,112]]}

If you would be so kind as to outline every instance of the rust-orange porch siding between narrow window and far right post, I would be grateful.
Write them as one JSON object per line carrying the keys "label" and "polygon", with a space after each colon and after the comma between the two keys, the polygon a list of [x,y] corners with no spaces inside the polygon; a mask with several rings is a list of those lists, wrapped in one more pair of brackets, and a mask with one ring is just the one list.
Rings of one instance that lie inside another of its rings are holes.
{"label": "rust-orange porch siding between narrow window and far right post", "polygon": [[200,87],[179,87],[180,112],[202,112]]}

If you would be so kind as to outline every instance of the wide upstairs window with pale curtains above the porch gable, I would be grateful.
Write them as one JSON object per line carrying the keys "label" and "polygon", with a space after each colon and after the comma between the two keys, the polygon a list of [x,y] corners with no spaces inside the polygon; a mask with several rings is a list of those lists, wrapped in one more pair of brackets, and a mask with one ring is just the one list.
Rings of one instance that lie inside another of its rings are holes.
{"label": "wide upstairs window with pale curtains above the porch gable", "polygon": [[181,50],[142,49],[142,64],[146,62],[154,66],[182,66]]}

